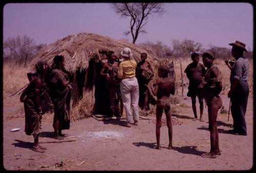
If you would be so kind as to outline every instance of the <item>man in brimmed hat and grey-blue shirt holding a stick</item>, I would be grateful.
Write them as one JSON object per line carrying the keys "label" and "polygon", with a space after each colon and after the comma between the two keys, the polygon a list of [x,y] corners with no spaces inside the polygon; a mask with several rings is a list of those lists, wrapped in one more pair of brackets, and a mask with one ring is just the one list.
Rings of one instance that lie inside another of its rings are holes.
{"label": "man in brimmed hat and grey-blue shirt holding a stick", "polygon": [[231,100],[231,114],[233,117],[233,129],[230,133],[234,135],[247,135],[245,113],[247,100],[249,95],[248,73],[249,61],[243,56],[245,44],[241,41],[236,41],[231,44],[232,56],[236,59],[230,73],[230,91],[228,97]]}

